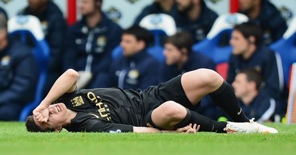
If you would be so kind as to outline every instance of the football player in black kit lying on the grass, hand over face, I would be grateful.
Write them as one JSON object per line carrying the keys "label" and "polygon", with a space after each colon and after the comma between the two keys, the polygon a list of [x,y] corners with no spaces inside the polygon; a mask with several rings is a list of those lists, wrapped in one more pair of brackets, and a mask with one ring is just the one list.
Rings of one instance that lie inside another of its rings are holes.
{"label": "football player in black kit lying on the grass, hand over face", "polygon": [[[213,70],[198,69],[145,90],[76,89],[79,74],[67,70],[28,116],[29,132],[277,133],[241,111],[232,87]],[[210,94],[234,122],[212,121],[192,111]]]}

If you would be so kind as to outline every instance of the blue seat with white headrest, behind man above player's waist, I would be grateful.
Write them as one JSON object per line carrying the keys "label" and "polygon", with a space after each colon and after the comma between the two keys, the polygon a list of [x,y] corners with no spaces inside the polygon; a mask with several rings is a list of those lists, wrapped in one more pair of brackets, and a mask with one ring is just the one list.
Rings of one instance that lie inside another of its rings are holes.
{"label": "blue seat with white headrest, behind man above player's waist", "polygon": [[[176,33],[176,23],[174,19],[167,14],[149,14],[140,21],[140,26],[146,28],[154,34],[154,44],[149,45],[147,52],[154,56],[158,61],[164,62],[162,37],[170,36]],[[112,59],[117,59],[122,55],[120,46],[116,47],[112,53]]]}

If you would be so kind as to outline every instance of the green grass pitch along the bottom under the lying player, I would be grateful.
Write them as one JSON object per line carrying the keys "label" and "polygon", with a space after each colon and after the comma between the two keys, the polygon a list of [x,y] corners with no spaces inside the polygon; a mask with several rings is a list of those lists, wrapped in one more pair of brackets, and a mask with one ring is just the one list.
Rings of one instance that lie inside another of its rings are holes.
{"label": "green grass pitch along the bottom under the lying player", "polygon": [[296,125],[279,134],[29,133],[24,123],[0,122],[0,154],[296,154]]}

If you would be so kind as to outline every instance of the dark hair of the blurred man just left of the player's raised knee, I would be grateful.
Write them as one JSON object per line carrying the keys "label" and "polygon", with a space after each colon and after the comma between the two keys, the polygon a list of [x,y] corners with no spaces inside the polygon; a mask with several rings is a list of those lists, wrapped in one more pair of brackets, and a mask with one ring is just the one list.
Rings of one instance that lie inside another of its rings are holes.
{"label": "dark hair of the blurred man just left of the player's raised knee", "polygon": [[192,35],[188,32],[177,32],[176,34],[172,35],[171,37],[167,37],[165,43],[172,43],[178,50],[182,48],[186,48],[189,52],[192,51],[192,45],[194,44],[194,40]]}

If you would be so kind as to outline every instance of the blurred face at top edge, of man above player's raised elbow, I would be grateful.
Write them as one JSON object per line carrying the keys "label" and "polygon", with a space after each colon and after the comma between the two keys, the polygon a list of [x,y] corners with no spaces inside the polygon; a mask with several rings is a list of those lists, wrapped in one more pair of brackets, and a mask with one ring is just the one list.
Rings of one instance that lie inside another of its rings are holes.
{"label": "blurred face at top edge, of man above player's raised elbow", "polygon": [[95,12],[95,1],[94,0],[80,0],[79,10],[82,16],[87,16]]}

